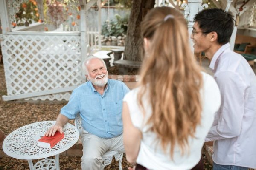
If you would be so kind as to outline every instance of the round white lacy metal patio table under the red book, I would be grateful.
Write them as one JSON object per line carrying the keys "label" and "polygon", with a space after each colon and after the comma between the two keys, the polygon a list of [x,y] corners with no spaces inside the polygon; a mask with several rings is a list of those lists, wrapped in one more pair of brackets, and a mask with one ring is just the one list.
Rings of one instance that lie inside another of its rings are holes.
{"label": "round white lacy metal patio table under the red book", "polygon": [[[70,123],[64,130],[64,138],[51,149],[39,147],[37,140],[55,124],[55,121],[36,122],[14,130],[3,141],[3,151],[16,159],[26,159],[30,170],[60,170],[59,154],[72,147],[79,139],[79,131]],[[55,159],[48,158],[55,156]],[[33,159],[41,159],[33,165]]]}

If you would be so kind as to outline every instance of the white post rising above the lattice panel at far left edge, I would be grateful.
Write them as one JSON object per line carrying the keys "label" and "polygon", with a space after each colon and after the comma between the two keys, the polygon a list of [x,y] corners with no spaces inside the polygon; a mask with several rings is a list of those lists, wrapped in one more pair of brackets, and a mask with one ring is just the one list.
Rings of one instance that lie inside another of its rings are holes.
{"label": "white post rising above the lattice panel at far left edge", "polygon": [[1,24],[3,28],[3,34],[6,34],[7,32],[11,32],[11,24],[8,17],[7,12],[7,4],[6,0],[0,0],[0,17],[1,17]]}

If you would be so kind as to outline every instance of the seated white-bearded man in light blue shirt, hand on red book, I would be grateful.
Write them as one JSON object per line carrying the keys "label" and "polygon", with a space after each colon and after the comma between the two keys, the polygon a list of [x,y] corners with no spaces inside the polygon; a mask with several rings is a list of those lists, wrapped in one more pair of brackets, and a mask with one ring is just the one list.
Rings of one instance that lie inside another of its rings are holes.
{"label": "seated white-bearded man in light blue shirt, hand on red book", "polygon": [[53,136],[56,131],[62,133],[62,127],[75,119],[82,118],[83,156],[82,170],[99,170],[102,155],[107,150],[124,153],[122,142],[122,99],[129,91],[120,81],[108,79],[105,62],[90,57],[83,63],[87,82],[76,88],[70,100],[57,117],[56,123],[46,133]]}

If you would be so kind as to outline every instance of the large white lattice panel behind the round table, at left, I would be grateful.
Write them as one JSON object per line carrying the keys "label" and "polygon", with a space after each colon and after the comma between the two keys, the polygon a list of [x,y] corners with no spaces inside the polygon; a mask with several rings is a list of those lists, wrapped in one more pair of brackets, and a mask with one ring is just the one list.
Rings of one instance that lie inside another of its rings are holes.
{"label": "large white lattice panel behind the round table, at left", "polygon": [[[27,94],[81,84],[79,36],[3,35],[7,95]],[[33,97],[68,100],[70,93]]]}

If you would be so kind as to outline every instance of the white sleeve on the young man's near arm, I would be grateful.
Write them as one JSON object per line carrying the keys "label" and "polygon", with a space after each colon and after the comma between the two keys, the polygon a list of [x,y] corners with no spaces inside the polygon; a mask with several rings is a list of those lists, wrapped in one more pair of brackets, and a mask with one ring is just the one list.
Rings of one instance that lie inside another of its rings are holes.
{"label": "white sleeve on the young man's near arm", "polygon": [[221,107],[215,115],[206,142],[239,136],[244,116],[244,91],[241,77],[231,71],[220,72],[215,80],[221,92]]}

